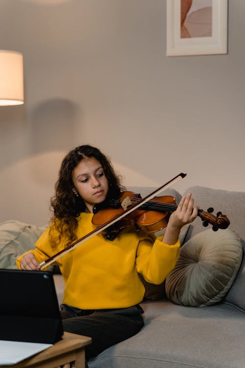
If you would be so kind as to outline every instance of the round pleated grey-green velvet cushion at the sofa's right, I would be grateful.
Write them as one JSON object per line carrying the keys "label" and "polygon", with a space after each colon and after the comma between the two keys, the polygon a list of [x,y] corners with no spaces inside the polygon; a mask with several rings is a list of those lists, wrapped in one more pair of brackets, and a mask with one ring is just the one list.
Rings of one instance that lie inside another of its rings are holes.
{"label": "round pleated grey-green velvet cushion at the sofa's right", "polygon": [[166,279],[166,294],[175,304],[215,304],[231,288],[242,262],[240,237],[230,229],[203,231],[180,248],[179,259]]}

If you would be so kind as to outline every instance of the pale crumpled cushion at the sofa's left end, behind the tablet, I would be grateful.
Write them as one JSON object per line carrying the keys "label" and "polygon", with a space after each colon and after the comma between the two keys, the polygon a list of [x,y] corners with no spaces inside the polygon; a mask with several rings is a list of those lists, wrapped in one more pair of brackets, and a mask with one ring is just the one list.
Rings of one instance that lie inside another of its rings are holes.
{"label": "pale crumpled cushion at the sofa's left end, behind the tablet", "polygon": [[0,268],[16,269],[16,259],[35,248],[47,226],[37,227],[17,220],[0,223]]}

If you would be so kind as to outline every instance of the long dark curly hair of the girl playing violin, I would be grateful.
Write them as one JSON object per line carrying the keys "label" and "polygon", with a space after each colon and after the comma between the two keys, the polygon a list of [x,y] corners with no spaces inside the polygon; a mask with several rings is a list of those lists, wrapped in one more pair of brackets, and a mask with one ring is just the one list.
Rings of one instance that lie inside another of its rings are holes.
{"label": "long dark curly hair of the girl playing violin", "polygon": [[[52,215],[49,236],[52,247],[60,242],[63,235],[68,238],[66,246],[77,239],[77,217],[86,209],[86,206],[82,198],[73,193],[72,173],[82,159],[91,157],[96,158],[102,165],[108,180],[106,200],[113,198],[115,193],[119,195],[120,191],[124,189],[121,185],[122,177],[115,173],[110,158],[102,154],[98,148],[83,145],[70,151],[61,163],[59,177],[55,183],[55,195],[50,200]],[[54,230],[58,231],[58,236],[53,236]]]}

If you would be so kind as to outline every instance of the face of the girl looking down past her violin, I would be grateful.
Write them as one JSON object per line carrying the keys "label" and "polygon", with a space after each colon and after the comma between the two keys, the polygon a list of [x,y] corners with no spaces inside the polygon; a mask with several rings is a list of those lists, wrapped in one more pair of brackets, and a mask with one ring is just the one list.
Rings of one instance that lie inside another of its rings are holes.
{"label": "face of the girl looking down past her violin", "polygon": [[72,179],[77,193],[89,212],[95,204],[105,200],[108,181],[100,162],[94,157],[83,158],[73,169]]}

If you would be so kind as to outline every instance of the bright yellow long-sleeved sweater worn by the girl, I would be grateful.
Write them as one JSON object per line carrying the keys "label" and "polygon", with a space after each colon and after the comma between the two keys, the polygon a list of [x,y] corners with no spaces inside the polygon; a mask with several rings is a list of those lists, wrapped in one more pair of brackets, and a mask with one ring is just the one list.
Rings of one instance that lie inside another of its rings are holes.
{"label": "bright yellow long-sleeved sweater worn by the girl", "polygon": [[[77,237],[95,229],[93,213],[78,218]],[[126,308],[143,300],[145,288],[138,272],[152,284],[161,284],[179,256],[180,242],[168,245],[162,237],[125,228],[113,241],[98,234],[56,261],[63,274],[63,302],[80,309]],[[49,229],[31,250],[41,263],[64,248],[64,241],[51,248]],[[23,255],[17,259],[17,265]]]}

